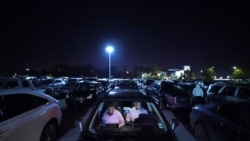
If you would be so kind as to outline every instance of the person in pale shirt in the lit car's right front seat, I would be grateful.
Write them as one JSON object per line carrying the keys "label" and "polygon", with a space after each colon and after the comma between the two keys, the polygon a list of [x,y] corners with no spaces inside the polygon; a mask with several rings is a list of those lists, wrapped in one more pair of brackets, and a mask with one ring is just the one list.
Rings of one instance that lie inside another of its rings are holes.
{"label": "person in pale shirt in the lit car's right front seat", "polygon": [[126,122],[134,122],[140,114],[148,114],[148,111],[141,106],[141,102],[134,102],[133,105],[126,115]]}

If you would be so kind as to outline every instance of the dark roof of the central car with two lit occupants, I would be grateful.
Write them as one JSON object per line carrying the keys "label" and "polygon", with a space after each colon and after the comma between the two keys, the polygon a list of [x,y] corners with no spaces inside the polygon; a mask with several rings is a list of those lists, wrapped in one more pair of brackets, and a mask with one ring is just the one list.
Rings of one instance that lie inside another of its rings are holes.
{"label": "dark roof of the central car with two lit occupants", "polygon": [[140,90],[115,89],[108,92],[102,99],[103,101],[153,101],[149,96]]}

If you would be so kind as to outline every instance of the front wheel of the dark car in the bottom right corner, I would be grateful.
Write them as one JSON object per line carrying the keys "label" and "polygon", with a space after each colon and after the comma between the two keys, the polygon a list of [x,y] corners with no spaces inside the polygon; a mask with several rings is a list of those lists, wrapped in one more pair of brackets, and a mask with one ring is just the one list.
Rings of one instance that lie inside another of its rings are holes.
{"label": "front wheel of the dark car in the bottom right corner", "polygon": [[209,141],[209,136],[207,133],[207,129],[201,123],[197,123],[194,126],[194,135],[197,141]]}

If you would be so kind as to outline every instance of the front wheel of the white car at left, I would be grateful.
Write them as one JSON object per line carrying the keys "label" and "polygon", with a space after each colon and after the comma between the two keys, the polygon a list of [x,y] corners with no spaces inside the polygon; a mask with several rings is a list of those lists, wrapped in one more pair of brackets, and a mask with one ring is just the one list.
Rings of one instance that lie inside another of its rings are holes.
{"label": "front wheel of the white car at left", "polygon": [[57,132],[57,126],[53,122],[49,122],[45,125],[41,135],[41,141],[53,141],[55,140]]}

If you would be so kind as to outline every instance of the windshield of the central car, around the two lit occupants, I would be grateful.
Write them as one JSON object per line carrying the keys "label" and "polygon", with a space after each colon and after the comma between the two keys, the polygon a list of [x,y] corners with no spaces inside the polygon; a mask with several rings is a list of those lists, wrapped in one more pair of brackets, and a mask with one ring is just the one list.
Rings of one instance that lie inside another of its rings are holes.
{"label": "windshield of the central car, around the two lit occupants", "polygon": [[[120,101],[115,103],[116,103],[115,109],[121,112],[124,119],[126,119],[126,115],[131,110],[133,102]],[[142,114],[141,116],[138,117],[138,119],[147,118],[148,120],[141,120],[143,122],[135,122],[133,125],[126,123],[125,126],[118,128],[117,125],[102,126],[101,117],[106,112],[107,103],[100,102],[88,126],[88,131],[91,134],[97,134],[97,135],[115,135],[121,133],[127,135],[141,135],[145,134],[145,132],[147,131],[152,134],[165,134],[168,131],[167,125],[165,123],[165,120],[157,110],[156,105],[152,102],[141,102],[141,106],[145,108],[145,110],[148,112],[147,114],[145,114],[147,116],[143,117],[142,115],[144,114]],[[143,130],[146,127],[144,125],[149,125],[150,128],[147,128],[149,130]]]}

